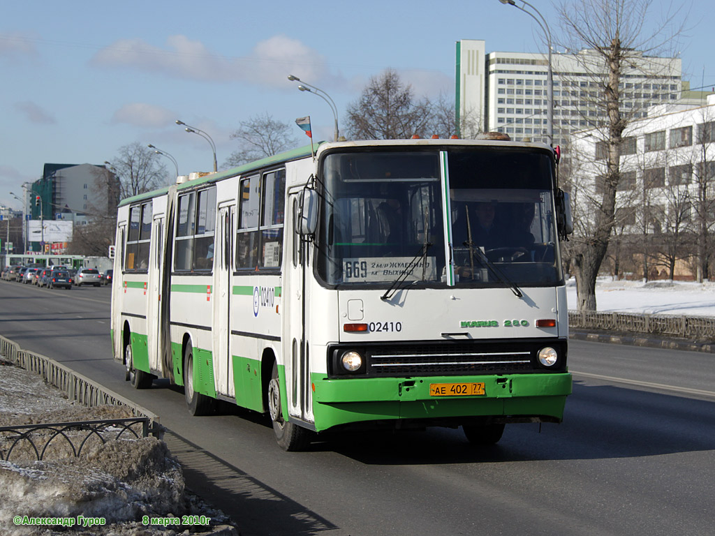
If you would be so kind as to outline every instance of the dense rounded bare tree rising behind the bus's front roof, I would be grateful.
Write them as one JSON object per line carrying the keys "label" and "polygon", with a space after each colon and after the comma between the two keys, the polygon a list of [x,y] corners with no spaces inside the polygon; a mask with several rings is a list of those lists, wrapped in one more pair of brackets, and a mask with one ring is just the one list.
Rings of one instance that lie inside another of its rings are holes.
{"label": "dense rounded bare tree rising behind the bus's front roof", "polygon": [[412,86],[388,69],[370,78],[358,100],[347,106],[345,131],[351,139],[428,137],[432,121],[430,101],[415,101]]}

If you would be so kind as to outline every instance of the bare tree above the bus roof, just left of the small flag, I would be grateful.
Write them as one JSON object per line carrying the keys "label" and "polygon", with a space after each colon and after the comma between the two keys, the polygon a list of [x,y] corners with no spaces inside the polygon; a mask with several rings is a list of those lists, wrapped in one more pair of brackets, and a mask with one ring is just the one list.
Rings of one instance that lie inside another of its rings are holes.
{"label": "bare tree above the bus roof, just left of the small flag", "polygon": [[225,167],[237,167],[254,160],[296,147],[300,142],[293,135],[296,127],[273,119],[265,112],[241,121],[240,127],[230,135],[239,142],[239,148],[226,160]]}

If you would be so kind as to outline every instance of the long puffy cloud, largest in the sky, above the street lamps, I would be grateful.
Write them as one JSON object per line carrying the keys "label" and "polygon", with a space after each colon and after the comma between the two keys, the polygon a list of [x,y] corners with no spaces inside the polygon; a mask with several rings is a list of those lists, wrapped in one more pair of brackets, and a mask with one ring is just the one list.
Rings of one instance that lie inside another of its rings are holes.
{"label": "long puffy cloud, largest in the sky, above the street lamps", "polygon": [[167,39],[159,48],[143,39],[122,39],[94,55],[93,66],[125,67],[162,73],[178,79],[244,81],[285,86],[292,71],[316,80],[325,74],[325,58],[297,39],[285,35],[260,41],[246,56],[214,54],[200,41],[184,35]]}

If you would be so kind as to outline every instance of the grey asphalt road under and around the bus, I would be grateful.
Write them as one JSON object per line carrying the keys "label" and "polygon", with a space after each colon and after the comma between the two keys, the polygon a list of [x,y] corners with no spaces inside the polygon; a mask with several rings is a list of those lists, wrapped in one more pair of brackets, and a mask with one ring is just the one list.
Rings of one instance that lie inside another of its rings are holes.
{"label": "grey asphalt road under and around the bus", "polygon": [[341,435],[282,452],[265,419],[189,417],[182,391],[124,382],[109,289],[0,282],[0,334],[161,417],[189,485],[242,535],[713,535],[715,356],[572,341],[561,425]]}

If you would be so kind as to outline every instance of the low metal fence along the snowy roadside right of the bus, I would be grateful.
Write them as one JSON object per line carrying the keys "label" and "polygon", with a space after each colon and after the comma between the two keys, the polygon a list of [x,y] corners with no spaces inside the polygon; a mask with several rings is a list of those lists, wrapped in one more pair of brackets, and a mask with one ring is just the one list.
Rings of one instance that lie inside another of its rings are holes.
{"label": "low metal fence along the snowy roadside right of the bus", "polygon": [[568,326],[611,332],[647,333],[697,341],[715,340],[715,318],[671,314],[569,311]]}

